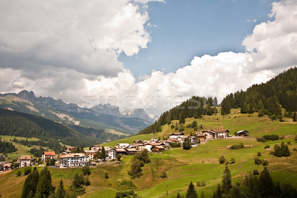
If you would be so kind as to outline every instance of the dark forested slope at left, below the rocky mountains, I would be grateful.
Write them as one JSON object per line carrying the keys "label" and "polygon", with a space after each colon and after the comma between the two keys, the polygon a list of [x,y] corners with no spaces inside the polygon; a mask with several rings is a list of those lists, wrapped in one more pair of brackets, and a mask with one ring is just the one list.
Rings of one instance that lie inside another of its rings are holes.
{"label": "dark forested slope at left, below the rocky mountains", "polygon": [[[38,138],[50,145],[57,141],[64,145],[98,145],[101,141],[95,137],[79,132],[54,121],[17,111],[0,108],[0,135]],[[44,144],[35,142],[35,144]]]}

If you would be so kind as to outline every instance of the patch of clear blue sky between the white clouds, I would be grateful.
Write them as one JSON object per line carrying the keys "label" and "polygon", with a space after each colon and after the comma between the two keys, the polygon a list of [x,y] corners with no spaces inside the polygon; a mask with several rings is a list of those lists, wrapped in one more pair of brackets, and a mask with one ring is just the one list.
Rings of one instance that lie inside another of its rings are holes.
{"label": "patch of clear blue sky between the white clouds", "polygon": [[[272,0],[149,2],[148,22],[156,27],[149,28],[151,42],[148,43],[148,48],[141,49],[133,56],[122,52],[119,60],[138,79],[139,76],[150,75],[153,69],[164,73],[174,72],[189,65],[194,56],[213,56],[224,51],[245,52],[242,41],[252,33],[254,26],[273,20],[268,17],[271,2]],[[223,23],[225,24],[215,32]],[[213,33],[215,34],[207,41]],[[207,42],[202,46],[205,41]]]}

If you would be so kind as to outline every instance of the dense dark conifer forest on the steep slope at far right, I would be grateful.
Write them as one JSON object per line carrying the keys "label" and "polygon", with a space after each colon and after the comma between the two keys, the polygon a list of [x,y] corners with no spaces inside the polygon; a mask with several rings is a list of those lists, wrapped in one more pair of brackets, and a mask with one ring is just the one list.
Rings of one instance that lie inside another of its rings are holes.
{"label": "dense dark conifer forest on the steep slope at far right", "polygon": [[246,91],[228,94],[221,102],[221,114],[230,113],[231,108],[241,108],[241,113],[259,112],[269,116],[292,117],[297,111],[297,68],[291,68],[266,83],[252,85]]}

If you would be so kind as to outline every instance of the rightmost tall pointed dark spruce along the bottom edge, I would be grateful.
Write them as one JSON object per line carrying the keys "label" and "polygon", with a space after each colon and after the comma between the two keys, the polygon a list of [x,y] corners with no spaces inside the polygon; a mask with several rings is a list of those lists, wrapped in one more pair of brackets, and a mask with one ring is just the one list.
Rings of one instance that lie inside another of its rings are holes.
{"label": "rightmost tall pointed dark spruce along the bottom edge", "polygon": [[270,173],[266,166],[260,173],[258,180],[258,189],[263,198],[272,198],[274,194],[274,185]]}

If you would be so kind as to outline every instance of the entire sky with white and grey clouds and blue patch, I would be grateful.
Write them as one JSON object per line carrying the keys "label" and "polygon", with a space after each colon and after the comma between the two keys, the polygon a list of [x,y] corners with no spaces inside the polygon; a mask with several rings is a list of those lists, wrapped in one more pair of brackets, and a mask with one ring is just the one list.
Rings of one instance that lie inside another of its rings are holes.
{"label": "entire sky with white and grey clouds and blue patch", "polygon": [[1,0],[0,93],[160,115],[297,65],[296,0]]}

